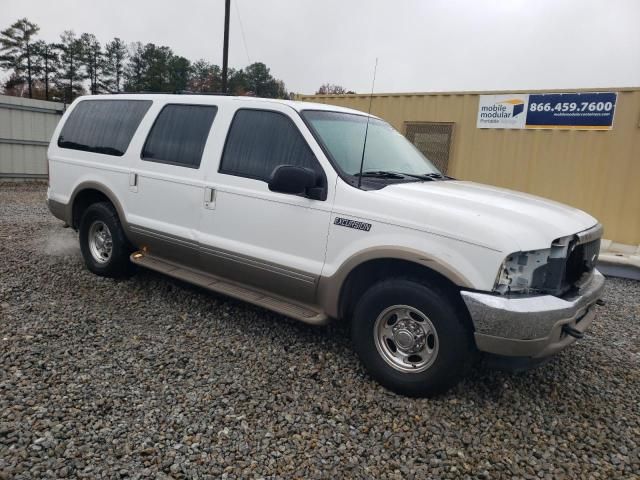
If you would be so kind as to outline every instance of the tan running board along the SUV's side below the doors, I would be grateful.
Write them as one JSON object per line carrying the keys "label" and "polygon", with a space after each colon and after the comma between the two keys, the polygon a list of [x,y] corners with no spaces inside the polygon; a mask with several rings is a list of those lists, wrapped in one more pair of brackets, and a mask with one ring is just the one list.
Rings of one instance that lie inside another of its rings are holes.
{"label": "tan running board along the SUV's side below the doors", "polygon": [[272,310],[305,323],[325,325],[329,321],[326,314],[310,305],[293,303],[285,298],[263,290],[241,285],[209,273],[192,270],[143,251],[132,253],[130,258],[135,265],[164,273],[178,280],[211,290],[212,292],[222,293],[223,295],[253,303],[259,307]]}

